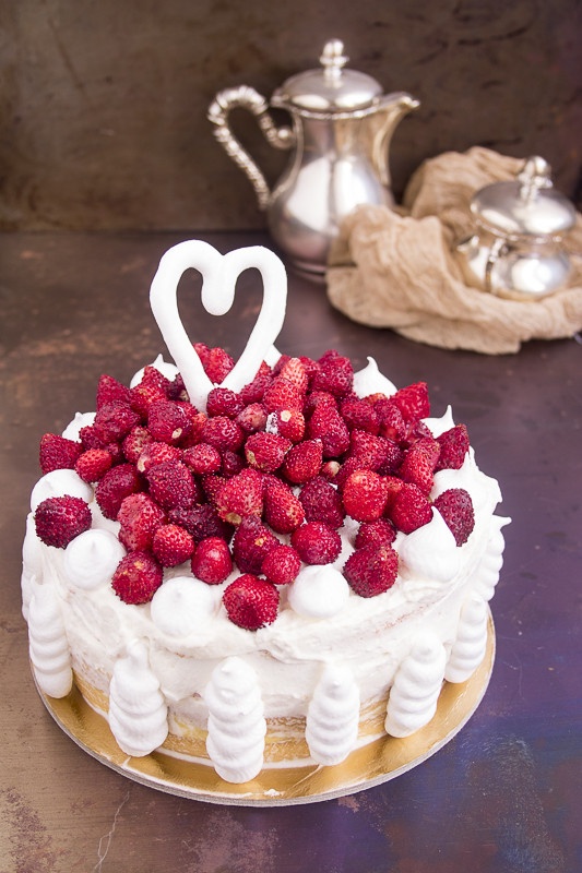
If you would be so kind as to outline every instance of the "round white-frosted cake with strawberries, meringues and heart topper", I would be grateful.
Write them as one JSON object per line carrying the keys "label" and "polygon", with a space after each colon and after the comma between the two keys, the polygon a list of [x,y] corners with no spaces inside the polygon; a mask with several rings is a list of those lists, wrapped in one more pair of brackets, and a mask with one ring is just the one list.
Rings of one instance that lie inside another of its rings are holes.
{"label": "round white-frosted cake with strawberries, meringues and heart topper", "polygon": [[[215,314],[261,272],[236,364],[183,331],[189,266]],[[128,756],[162,749],[231,784],[426,726],[485,657],[509,521],[425,383],[276,351],[285,296],[265,249],[170,249],[151,302],[176,364],[103,375],[95,411],[43,436],[23,548],[43,694],[74,684]]]}

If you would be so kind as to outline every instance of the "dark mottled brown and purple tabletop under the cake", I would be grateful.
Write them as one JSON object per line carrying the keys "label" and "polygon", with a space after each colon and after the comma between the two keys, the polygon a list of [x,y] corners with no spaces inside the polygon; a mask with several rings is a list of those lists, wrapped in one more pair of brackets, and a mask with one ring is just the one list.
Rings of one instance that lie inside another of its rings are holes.
{"label": "dark mottled brown and purple tabletop under the cake", "polygon": [[[324,802],[209,804],[156,791],[87,755],[39,699],[20,572],[38,440],[94,408],[102,372],[129,382],[164,350],[147,302],[179,234],[0,237],[1,873],[574,873],[581,842],[582,348],[532,342],[488,357],[349,322],[324,286],[289,273],[282,352],[371,355],[396,385],[453,407],[502,486],[506,561],[492,600],[497,655],[479,708],[396,779]],[[260,232],[204,237],[226,252]],[[250,276],[250,278],[249,278]],[[240,354],[260,306],[245,278],[215,319],[182,295],[192,339]],[[166,355],[167,357],[167,355]]]}

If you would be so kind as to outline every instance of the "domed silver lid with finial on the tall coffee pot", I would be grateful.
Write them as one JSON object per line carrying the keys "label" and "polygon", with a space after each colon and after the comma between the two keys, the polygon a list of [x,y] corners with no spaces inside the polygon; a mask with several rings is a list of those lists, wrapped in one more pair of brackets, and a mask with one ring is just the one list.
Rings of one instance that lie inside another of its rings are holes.
{"label": "domed silver lid with finial on the tall coffee pot", "polygon": [[288,79],[274,92],[271,103],[309,115],[368,108],[382,94],[382,87],[366,73],[344,70],[348,60],[344,44],[330,39],[323,46],[321,69],[307,70]]}

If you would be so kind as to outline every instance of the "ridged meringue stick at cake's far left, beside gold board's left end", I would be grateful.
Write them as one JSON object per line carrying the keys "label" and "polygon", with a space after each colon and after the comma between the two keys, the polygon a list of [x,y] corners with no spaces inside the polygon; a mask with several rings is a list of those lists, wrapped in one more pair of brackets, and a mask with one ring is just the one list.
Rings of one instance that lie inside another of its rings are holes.
{"label": "ridged meringue stick at cake's far left, beside gold board's left end", "polygon": [[40,690],[49,697],[66,697],[73,686],[73,671],[58,594],[51,585],[33,587],[28,651]]}

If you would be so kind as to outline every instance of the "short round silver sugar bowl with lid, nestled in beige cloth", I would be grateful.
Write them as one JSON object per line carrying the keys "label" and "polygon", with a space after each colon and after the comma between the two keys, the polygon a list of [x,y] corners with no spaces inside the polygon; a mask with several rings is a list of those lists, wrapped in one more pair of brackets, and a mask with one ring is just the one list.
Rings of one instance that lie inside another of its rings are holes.
{"label": "short round silver sugar bowl with lid, nestled in beige cloth", "polygon": [[511,300],[536,300],[568,280],[562,237],[575,224],[573,205],[551,182],[543,157],[527,158],[514,181],[494,182],[473,196],[476,234],[456,246],[468,285]]}

